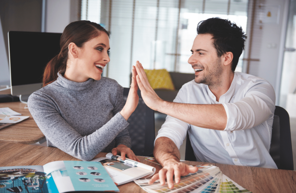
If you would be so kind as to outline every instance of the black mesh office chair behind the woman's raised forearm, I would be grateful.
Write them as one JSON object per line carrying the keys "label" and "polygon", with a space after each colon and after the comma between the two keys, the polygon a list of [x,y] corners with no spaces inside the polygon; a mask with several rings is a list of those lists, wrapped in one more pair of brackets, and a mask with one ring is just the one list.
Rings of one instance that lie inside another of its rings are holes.
{"label": "black mesh office chair behind the woman's raised forearm", "polygon": [[[130,88],[124,88],[124,101]],[[155,126],[154,126],[154,110],[150,109],[143,101],[140,90],[138,90],[139,103],[136,110],[130,115],[127,127],[132,141],[131,150],[137,156],[153,157]]]}

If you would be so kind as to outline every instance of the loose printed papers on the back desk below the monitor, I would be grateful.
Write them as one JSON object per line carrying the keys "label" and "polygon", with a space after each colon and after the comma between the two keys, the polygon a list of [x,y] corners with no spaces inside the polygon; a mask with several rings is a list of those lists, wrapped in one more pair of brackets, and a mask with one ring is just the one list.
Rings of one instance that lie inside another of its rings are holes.
{"label": "loose printed papers on the back desk below the monitor", "polygon": [[21,113],[15,112],[14,110],[5,107],[0,108],[0,129],[13,125],[28,119],[29,116],[19,116]]}

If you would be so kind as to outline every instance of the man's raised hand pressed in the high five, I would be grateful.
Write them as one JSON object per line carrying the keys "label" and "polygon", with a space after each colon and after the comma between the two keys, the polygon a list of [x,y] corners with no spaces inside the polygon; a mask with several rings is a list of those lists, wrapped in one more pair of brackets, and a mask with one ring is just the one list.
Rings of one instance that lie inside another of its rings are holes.
{"label": "man's raised hand pressed in the high five", "polygon": [[150,86],[144,68],[139,61],[136,63],[137,70],[137,83],[141,90],[142,98],[147,106],[153,110],[158,110],[159,103],[163,100],[155,93],[153,88]]}

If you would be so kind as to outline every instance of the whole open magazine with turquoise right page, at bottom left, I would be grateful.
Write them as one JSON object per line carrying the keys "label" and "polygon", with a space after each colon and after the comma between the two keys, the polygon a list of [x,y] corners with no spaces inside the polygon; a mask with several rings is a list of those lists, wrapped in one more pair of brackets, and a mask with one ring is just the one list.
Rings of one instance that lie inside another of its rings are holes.
{"label": "whole open magazine with turquoise right page, at bottom left", "polygon": [[119,191],[101,163],[54,161],[44,166],[0,167],[0,193]]}

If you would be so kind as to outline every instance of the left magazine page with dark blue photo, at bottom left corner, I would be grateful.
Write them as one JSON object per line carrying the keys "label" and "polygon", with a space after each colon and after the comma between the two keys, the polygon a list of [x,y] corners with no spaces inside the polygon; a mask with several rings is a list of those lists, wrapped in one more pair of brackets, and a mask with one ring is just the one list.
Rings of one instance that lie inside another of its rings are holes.
{"label": "left magazine page with dark blue photo, at bottom left corner", "polygon": [[48,192],[42,166],[0,167],[0,193]]}

